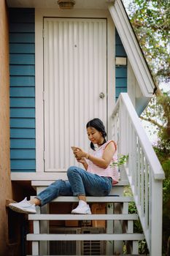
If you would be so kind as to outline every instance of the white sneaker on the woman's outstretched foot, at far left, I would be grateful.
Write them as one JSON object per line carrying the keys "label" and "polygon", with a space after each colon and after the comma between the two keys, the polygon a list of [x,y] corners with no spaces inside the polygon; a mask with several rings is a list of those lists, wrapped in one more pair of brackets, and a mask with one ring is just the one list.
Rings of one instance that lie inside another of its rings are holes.
{"label": "white sneaker on the woman's outstretched foot, at far left", "polygon": [[27,198],[19,203],[9,203],[9,208],[21,214],[36,214],[36,206],[29,203]]}

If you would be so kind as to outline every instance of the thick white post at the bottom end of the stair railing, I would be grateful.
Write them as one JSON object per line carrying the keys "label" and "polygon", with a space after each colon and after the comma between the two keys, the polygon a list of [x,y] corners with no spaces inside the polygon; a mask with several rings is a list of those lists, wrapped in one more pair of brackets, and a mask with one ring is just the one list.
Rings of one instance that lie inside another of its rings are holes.
{"label": "thick white post at the bottom end of the stair railing", "polygon": [[150,211],[150,256],[162,255],[162,180],[152,177]]}

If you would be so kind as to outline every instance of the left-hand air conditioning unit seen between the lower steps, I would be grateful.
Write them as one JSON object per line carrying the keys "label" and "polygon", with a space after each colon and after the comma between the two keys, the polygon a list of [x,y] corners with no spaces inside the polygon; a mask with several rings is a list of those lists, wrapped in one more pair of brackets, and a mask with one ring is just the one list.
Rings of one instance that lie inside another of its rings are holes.
{"label": "left-hand air conditioning unit seen between the lower steps", "polygon": [[[50,226],[52,234],[79,234],[79,227]],[[50,255],[81,255],[81,241],[50,241]]]}

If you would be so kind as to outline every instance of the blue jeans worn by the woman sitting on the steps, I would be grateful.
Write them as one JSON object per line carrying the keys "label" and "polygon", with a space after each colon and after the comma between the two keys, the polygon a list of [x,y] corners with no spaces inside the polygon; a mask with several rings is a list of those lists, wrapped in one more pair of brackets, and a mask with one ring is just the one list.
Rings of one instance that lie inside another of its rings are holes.
{"label": "blue jeans worn by the woman sitting on the steps", "polygon": [[59,195],[92,195],[102,197],[109,195],[112,189],[112,178],[88,173],[80,167],[69,167],[67,177],[69,181],[61,179],[55,181],[36,196],[41,201],[41,206],[50,203]]}

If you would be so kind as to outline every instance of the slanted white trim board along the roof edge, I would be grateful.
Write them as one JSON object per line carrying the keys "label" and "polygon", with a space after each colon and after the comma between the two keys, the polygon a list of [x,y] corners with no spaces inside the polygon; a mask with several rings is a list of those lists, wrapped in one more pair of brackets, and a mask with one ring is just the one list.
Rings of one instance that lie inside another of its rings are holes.
{"label": "slanted white trim board along the roof edge", "polygon": [[116,0],[115,5],[111,4],[109,6],[109,12],[114,20],[128,59],[131,62],[131,67],[134,70],[142,94],[144,97],[150,98],[155,89],[155,84],[142,55],[139,42],[137,42],[134,31],[131,28],[131,23],[128,20],[122,1]]}

